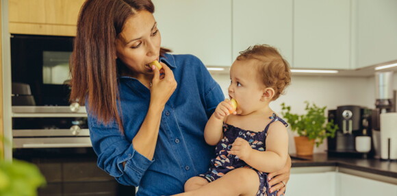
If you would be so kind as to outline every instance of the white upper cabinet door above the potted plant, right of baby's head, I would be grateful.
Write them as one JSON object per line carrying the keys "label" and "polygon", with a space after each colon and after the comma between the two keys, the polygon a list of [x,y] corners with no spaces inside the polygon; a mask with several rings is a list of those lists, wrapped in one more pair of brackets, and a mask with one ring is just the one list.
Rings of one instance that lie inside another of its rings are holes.
{"label": "white upper cabinet door above the potted plant, right of baby's head", "polygon": [[350,30],[350,0],[294,1],[293,67],[350,69]]}

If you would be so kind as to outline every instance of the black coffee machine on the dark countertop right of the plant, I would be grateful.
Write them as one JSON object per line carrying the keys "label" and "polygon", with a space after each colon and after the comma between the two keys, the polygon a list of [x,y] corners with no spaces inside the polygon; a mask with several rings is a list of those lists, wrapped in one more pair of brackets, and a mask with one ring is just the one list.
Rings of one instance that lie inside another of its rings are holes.
{"label": "black coffee machine on the dark countertop right of the plant", "polygon": [[[371,135],[372,110],[361,106],[337,106],[328,111],[328,121],[338,125],[334,138],[327,138],[329,156],[359,157],[363,153],[356,151],[355,138]],[[372,155],[372,151],[368,153]]]}

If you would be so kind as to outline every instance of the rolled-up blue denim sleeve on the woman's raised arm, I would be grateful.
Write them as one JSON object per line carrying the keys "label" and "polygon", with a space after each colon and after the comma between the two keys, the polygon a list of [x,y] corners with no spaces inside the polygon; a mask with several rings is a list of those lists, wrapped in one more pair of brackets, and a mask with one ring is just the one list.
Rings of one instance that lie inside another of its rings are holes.
{"label": "rolled-up blue denim sleeve on the woman's raised arm", "polygon": [[[145,171],[154,162],[139,154],[118,130],[116,122],[105,125],[88,115],[92,148],[98,156],[98,167],[120,184],[138,186]],[[125,167],[123,167],[125,162]]]}

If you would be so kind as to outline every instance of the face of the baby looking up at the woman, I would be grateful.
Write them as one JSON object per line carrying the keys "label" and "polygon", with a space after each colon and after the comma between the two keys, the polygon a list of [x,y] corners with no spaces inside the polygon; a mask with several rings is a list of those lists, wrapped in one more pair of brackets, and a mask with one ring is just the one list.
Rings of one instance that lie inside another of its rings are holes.
{"label": "face of the baby looking up at the woman", "polygon": [[235,60],[230,69],[229,98],[238,103],[237,114],[250,114],[263,108],[265,86],[259,81],[256,60]]}

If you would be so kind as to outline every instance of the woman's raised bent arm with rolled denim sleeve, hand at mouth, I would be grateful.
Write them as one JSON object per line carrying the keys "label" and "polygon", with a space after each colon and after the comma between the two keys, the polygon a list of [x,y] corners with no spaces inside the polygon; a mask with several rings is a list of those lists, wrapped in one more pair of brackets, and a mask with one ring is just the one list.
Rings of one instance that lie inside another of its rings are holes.
{"label": "woman's raised bent arm with rolled denim sleeve, hand at mouth", "polygon": [[159,71],[155,70],[149,110],[142,125],[139,130],[129,130],[137,133],[132,141],[120,133],[116,122],[103,124],[88,114],[90,137],[98,155],[98,166],[114,176],[120,184],[138,186],[144,172],[153,163],[162,110],[177,86],[172,71],[165,64],[163,67],[165,76],[162,79],[159,79]]}

